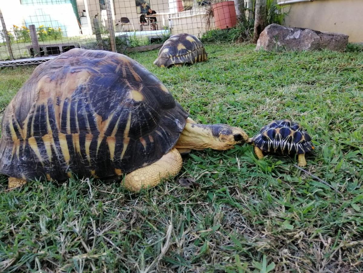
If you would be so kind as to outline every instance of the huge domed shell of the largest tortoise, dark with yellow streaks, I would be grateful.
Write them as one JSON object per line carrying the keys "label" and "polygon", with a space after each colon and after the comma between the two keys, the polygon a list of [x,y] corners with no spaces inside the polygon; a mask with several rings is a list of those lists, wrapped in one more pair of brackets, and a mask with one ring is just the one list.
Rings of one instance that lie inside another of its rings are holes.
{"label": "huge domed shell of the largest tortoise, dark with yellow streaks", "polygon": [[187,116],[136,61],[72,49],[39,65],[5,110],[0,173],[120,177],[171,150]]}

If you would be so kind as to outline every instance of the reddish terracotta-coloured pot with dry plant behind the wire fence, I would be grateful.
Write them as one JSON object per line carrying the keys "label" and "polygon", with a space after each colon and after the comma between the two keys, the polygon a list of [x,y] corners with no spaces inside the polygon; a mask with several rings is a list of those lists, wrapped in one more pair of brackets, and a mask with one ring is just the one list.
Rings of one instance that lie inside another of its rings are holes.
{"label": "reddish terracotta-coloured pot with dry plant behind the wire fence", "polygon": [[211,0],[206,11],[207,25],[210,26],[212,18],[217,29],[233,28],[237,24],[234,1]]}

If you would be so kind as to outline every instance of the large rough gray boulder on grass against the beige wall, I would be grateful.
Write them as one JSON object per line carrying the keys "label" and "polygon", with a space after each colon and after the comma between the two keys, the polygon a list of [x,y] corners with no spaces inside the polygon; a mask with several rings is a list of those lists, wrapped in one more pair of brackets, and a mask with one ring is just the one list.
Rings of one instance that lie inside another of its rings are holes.
{"label": "large rough gray boulder on grass against the beige wall", "polygon": [[320,32],[309,28],[290,28],[278,24],[268,25],[258,38],[256,50],[288,51],[330,49],[344,51],[348,35],[342,33]]}

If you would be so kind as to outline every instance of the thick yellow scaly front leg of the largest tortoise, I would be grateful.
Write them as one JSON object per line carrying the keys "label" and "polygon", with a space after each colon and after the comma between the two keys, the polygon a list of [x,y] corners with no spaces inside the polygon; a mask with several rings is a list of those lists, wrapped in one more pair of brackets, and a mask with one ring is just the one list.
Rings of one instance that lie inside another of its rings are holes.
{"label": "thick yellow scaly front leg of the largest tortoise", "polygon": [[133,192],[140,189],[152,188],[158,185],[164,178],[175,176],[179,173],[183,160],[177,149],[173,148],[164,154],[158,161],[143,168],[126,174],[125,187]]}

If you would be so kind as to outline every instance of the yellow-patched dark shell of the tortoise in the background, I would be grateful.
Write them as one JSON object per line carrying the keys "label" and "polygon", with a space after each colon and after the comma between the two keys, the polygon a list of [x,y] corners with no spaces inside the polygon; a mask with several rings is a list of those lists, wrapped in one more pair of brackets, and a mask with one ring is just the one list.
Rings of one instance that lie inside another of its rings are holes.
{"label": "yellow-patched dark shell of the tortoise in the background", "polygon": [[170,67],[175,64],[194,64],[207,60],[207,53],[201,41],[194,35],[181,33],[172,35],[160,48],[154,64]]}

